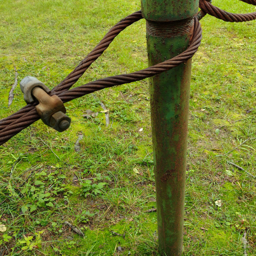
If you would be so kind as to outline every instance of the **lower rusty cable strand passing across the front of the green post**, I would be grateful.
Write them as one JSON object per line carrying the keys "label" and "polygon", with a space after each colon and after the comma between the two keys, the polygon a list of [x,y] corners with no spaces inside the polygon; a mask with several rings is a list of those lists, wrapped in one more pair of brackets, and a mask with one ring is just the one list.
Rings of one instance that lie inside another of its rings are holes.
{"label": "lower rusty cable strand passing across the front of the green post", "polygon": [[[84,96],[86,94],[89,94],[98,90],[102,90],[104,88],[131,83],[138,80],[142,80],[144,78],[154,76],[156,74],[160,74],[192,58],[192,56],[196,53],[196,51],[198,50],[198,47],[200,46],[201,39],[202,39],[202,28],[200,26],[199,20],[195,16],[194,32],[193,32],[190,46],[178,56],[175,56],[170,60],[166,60],[162,63],[156,64],[149,68],[145,68],[143,70],[136,71],[130,74],[110,76],[107,78],[89,82],[88,84],[78,86],[71,90],[67,90],[64,92],[58,91],[56,92],[56,95],[58,95],[63,102],[68,102],[75,98]],[[21,118],[18,118],[17,120],[15,120],[11,124],[3,128],[2,130],[0,130],[0,145],[4,144],[6,141],[8,141],[10,138],[16,135],[18,132],[30,126],[30,124],[34,123],[38,119],[39,119],[39,116],[35,108],[33,108],[32,110],[30,110],[30,112],[26,113]]]}

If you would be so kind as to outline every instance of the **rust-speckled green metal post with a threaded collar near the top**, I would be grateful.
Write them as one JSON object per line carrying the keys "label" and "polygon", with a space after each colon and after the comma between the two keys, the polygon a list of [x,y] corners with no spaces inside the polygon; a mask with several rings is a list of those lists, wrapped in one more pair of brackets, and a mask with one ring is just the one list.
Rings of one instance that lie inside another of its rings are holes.
{"label": "rust-speckled green metal post with a threaded collar near the top", "polygon": [[[148,64],[189,45],[199,0],[141,0]],[[150,78],[158,241],[162,256],[182,254],[191,60]]]}

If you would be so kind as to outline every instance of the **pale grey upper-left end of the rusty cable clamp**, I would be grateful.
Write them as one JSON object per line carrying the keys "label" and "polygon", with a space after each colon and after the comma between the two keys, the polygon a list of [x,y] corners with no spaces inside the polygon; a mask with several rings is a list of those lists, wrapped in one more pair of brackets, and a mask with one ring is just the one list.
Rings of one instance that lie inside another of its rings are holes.
{"label": "pale grey upper-left end of the rusty cable clamp", "polygon": [[27,104],[35,101],[32,95],[32,90],[35,87],[40,87],[47,93],[50,92],[50,89],[45,84],[33,76],[26,76],[20,81],[20,90],[23,92],[23,97]]}

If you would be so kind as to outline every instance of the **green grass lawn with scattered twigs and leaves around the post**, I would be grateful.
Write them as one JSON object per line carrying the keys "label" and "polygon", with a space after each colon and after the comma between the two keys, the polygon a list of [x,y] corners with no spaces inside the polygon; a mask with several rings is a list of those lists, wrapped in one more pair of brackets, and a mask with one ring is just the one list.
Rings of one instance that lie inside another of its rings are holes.
{"label": "green grass lawn with scattered twigs and leaves around the post", "polygon": [[[213,4],[236,13],[256,11],[238,0]],[[4,118],[25,105],[17,87],[8,107],[14,67],[18,82],[35,76],[53,88],[111,26],[140,10],[140,1],[2,0],[0,10]],[[234,24],[206,16],[201,23],[202,45],[192,67],[184,256],[242,256],[244,231],[252,256],[256,22]],[[140,20],[122,32],[75,86],[146,68],[145,26]],[[108,127],[104,113],[82,116],[88,109],[100,112],[100,102],[109,110]],[[156,212],[145,212],[156,207],[148,80],[65,106],[72,118],[65,132],[38,121],[0,146],[0,255],[1,248],[12,256],[159,255]],[[75,152],[80,134],[81,150]]]}

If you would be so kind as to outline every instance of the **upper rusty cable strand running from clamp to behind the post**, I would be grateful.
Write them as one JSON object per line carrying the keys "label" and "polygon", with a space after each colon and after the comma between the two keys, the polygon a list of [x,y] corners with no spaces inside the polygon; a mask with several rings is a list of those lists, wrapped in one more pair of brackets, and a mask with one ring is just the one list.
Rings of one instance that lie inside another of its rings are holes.
{"label": "upper rusty cable strand running from clamp to behind the post", "polygon": [[[114,25],[108,33],[102,38],[97,46],[78,64],[78,66],[68,76],[60,82],[56,87],[52,89],[50,95],[52,96],[55,92],[68,90],[77,80],[84,74],[89,66],[97,60],[98,57],[108,48],[114,38],[120,34],[122,30],[133,24],[134,22],[142,19],[141,11],[134,12],[128,15],[126,18],[120,20]],[[27,113],[32,111],[37,103],[28,104],[18,112],[0,120],[0,130],[4,129],[6,125],[12,124],[16,119],[24,117]]]}

